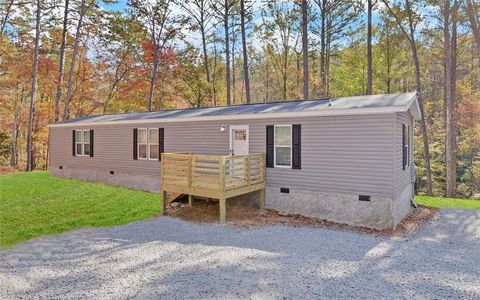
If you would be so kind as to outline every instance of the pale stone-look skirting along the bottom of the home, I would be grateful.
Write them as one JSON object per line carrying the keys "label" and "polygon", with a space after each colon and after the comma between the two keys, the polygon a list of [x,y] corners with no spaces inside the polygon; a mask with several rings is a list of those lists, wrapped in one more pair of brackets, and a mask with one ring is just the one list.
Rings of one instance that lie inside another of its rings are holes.
{"label": "pale stone-look skirting along the bottom of the home", "polygon": [[[109,171],[59,169],[58,167],[52,168],[50,172],[60,177],[103,182],[150,192],[160,191],[160,178],[151,175],[117,171],[115,174],[110,174]],[[411,186],[405,188],[398,199],[372,196],[371,201],[359,201],[358,195],[352,194],[322,193],[292,188],[289,193],[281,193],[279,187],[267,186],[265,207],[352,226],[391,229],[395,228],[411,211],[411,196]],[[254,192],[236,197],[235,201],[229,201],[229,204],[251,206],[258,204],[258,201],[258,192]]]}

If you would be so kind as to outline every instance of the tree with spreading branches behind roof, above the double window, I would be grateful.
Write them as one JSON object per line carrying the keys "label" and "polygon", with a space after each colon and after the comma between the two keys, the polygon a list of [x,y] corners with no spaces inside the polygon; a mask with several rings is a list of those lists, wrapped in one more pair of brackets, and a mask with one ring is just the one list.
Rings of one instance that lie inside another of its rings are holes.
{"label": "tree with spreading branches behind roof, above the double window", "polygon": [[155,85],[157,82],[158,67],[160,65],[160,54],[167,43],[177,33],[176,23],[172,16],[171,0],[155,0],[144,2],[131,0],[128,5],[133,9],[134,15],[139,18],[142,25],[150,35],[150,42],[153,46],[153,64],[150,76],[150,90],[148,94],[148,111],[152,111]]}

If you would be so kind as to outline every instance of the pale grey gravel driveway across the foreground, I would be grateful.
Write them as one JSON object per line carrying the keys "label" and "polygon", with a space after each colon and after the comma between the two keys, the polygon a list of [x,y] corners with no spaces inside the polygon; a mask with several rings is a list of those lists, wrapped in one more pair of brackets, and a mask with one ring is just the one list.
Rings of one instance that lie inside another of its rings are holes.
{"label": "pale grey gravel driveway across the foreground", "polygon": [[480,298],[480,211],[391,238],[160,217],[0,252],[0,299],[412,297]]}

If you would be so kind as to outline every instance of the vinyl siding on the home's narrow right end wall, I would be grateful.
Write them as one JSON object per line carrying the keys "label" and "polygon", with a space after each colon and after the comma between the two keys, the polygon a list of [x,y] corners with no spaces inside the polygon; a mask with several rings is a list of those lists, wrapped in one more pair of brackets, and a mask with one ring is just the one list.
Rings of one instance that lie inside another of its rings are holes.
{"label": "vinyl siding on the home's narrow right end wall", "polygon": [[[408,185],[411,184],[412,164],[413,164],[413,118],[410,113],[397,113],[395,122],[395,149],[394,149],[394,195],[399,195]],[[402,124],[410,127],[410,164],[403,169],[403,132]]]}

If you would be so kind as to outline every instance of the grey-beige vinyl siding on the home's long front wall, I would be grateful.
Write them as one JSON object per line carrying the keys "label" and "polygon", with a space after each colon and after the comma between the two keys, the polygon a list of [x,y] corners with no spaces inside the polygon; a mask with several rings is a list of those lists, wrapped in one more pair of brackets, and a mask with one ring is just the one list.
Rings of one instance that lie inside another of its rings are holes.
{"label": "grey-beige vinyl siding on the home's long front wall", "polygon": [[[52,168],[160,175],[159,161],[133,160],[133,128],[165,128],[165,151],[228,154],[228,125],[249,125],[250,153],[265,152],[266,125],[302,125],[302,169],[268,168],[267,185],[392,196],[394,114],[50,128]],[[226,126],[224,132],[220,131]],[[72,156],[72,130],[95,130],[94,157]]]}

